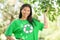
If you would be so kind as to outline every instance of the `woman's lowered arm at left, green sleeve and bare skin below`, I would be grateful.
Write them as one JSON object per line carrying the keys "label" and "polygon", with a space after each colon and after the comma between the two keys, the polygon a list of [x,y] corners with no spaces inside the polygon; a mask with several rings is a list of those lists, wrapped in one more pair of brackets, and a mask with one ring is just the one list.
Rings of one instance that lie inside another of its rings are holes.
{"label": "woman's lowered arm at left, green sleeve and bare skin below", "polygon": [[14,40],[12,36],[15,27],[15,21],[12,21],[5,31],[5,36],[8,40]]}

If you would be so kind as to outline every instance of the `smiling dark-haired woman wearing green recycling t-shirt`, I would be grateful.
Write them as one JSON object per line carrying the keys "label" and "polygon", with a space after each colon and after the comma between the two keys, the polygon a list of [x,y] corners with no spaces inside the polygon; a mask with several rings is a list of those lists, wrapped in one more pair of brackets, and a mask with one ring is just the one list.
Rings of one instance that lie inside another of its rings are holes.
{"label": "smiling dark-haired woman wearing green recycling t-shirt", "polygon": [[20,9],[19,19],[11,22],[5,35],[7,39],[14,40],[14,34],[18,40],[38,40],[38,31],[44,28],[43,23],[32,18],[32,8],[29,4],[23,4]]}

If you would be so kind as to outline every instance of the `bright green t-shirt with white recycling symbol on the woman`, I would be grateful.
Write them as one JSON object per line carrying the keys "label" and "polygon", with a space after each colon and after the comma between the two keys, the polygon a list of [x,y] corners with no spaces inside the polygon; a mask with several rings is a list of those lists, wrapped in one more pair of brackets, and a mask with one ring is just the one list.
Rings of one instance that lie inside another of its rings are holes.
{"label": "bright green t-shirt with white recycling symbol on the woman", "polygon": [[14,34],[16,39],[38,40],[38,32],[44,28],[44,24],[33,18],[33,26],[27,20],[15,19],[5,31],[6,36]]}

